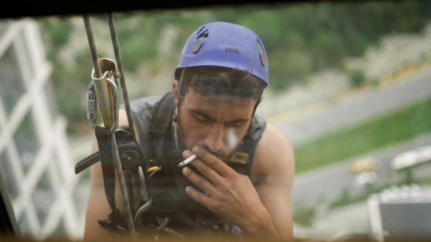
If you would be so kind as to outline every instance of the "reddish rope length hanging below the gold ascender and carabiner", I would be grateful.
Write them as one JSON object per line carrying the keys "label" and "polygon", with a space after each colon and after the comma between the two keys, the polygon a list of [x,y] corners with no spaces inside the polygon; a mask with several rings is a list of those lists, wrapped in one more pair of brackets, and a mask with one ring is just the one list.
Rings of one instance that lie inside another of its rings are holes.
{"label": "reddish rope length hanging below the gold ascender and carabiner", "polygon": [[114,134],[111,135],[111,142],[112,142],[112,148],[114,150],[115,171],[117,172],[117,177],[120,180],[121,197],[123,198],[124,208],[126,210],[127,226],[129,228],[130,236],[132,236],[133,238],[136,238],[135,225],[133,224],[133,216],[130,209],[129,197],[127,195],[126,184],[124,182],[123,169],[121,167],[120,156],[118,155],[118,149],[117,149],[117,141],[115,140]]}

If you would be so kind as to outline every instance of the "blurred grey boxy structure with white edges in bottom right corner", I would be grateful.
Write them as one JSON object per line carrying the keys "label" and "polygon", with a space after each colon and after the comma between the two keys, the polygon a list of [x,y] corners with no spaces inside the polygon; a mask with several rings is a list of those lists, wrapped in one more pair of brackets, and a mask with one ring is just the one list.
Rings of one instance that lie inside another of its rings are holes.
{"label": "blurred grey boxy structure with white edges in bottom right corner", "polygon": [[379,242],[406,237],[412,241],[424,238],[428,241],[431,237],[430,192],[429,187],[423,190],[412,184],[393,186],[371,195],[367,203],[373,237]]}

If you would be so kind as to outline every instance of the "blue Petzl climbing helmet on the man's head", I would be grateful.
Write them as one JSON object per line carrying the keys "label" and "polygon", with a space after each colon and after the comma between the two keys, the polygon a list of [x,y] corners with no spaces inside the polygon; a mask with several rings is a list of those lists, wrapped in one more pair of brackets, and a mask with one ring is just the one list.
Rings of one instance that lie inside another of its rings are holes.
{"label": "blue Petzl climbing helmet on the man's head", "polygon": [[196,29],[181,51],[175,80],[180,80],[181,69],[197,66],[252,70],[252,75],[268,85],[268,59],[262,40],[241,25],[212,22]]}

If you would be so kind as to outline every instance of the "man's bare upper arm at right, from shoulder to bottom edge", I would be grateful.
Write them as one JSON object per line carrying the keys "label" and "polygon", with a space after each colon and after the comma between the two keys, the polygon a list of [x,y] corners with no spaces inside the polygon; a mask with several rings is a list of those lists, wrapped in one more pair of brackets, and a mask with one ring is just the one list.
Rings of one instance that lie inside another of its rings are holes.
{"label": "man's bare upper arm at right, from shoulder to bottom edge", "polygon": [[271,124],[256,149],[252,177],[263,177],[256,191],[268,210],[282,241],[293,241],[290,196],[295,175],[295,157],[288,137]]}

